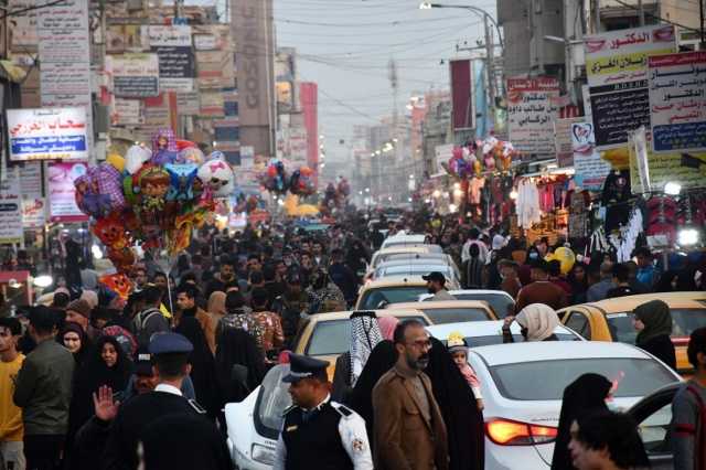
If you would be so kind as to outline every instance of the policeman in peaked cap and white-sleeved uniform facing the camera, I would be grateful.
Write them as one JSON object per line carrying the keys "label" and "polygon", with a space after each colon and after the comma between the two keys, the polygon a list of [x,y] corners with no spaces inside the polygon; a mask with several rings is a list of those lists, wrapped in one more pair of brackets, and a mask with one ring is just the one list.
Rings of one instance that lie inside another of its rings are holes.
{"label": "policeman in peaked cap and white-sleeved uniform facing the camera", "polygon": [[372,470],[365,421],[331,402],[325,361],[290,354],[293,406],[285,412],[274,470]]}

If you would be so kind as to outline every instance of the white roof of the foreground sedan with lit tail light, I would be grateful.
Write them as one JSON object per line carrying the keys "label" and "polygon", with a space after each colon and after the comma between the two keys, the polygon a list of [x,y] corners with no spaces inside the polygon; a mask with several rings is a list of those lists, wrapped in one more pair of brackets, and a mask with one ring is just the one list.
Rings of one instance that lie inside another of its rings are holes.
{"label": "white roof of the foreground sedan with lit tail light", "polygon": [[602,341],[533,341],[479,346],[473,352],[489,366],[566,359],[651,359],[631,344]]}

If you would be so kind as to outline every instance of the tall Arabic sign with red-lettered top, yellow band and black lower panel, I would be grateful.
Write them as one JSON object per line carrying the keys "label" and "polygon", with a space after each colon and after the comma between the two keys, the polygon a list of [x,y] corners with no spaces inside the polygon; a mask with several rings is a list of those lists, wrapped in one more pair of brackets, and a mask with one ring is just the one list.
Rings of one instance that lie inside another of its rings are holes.
{"label": "tall Arabic sign with red-lettered top, yellow band and black lower panel", "polygon": [[624,147],[628,132],[650,127],[648,56],[675,51],[674,26],[619,30],[585,39],[586,74],[596,143]]}

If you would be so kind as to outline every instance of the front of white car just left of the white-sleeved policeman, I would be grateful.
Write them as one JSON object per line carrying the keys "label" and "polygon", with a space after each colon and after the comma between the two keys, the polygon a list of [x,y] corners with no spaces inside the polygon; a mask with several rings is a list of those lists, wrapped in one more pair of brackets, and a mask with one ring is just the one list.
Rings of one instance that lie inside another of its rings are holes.
{"label": "front of white car just left of the white-sleeved policeman", "polygon": [[284,412],[291,406],[289,384],[282,377],[289,364],[270,368],[263,384],[240,403],[225,405],[231,458],[239,470],[270,470]]}

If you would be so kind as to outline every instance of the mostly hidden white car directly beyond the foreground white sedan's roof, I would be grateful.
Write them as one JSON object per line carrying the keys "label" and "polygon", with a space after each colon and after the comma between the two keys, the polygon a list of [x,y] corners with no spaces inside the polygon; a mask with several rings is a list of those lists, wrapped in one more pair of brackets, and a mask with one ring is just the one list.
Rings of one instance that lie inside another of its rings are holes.
{"label": "mostly hidden white car directly beyond the foreground white sedan's roof", "polygon": [[[510,325],[510,332],[517,343],[524,341],[520,330],[521,327],[516,321]],[[502,320],[438,323],[427,327],[427,331],[443,344],[446,344],[446,340],[451,333],[461,333],[461,335],[466,339],[466,343],[469,345],[469,348],[479,348],[503,343]],[[561,324],[554,329],[554,334],[559,341],[586,341],[580,334],[573,330],[569,330]]]}

